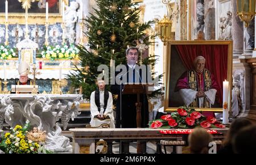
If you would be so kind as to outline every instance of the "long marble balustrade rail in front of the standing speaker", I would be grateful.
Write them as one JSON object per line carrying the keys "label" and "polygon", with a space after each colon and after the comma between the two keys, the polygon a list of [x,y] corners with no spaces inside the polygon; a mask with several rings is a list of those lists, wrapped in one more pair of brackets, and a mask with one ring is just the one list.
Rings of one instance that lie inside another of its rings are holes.
{"label": "long marble balustrade rail in front of the standing speaker", "polygon": [[[183,136],[188,134],[161,134],[160,130],[170,129],[151,129],[151,128],[75,128],[69,129],[73,134],[73,154],[82,153],[85,147],[89,147],[90,154],[95,153],[95,145],[98,139],[105,141],[114,141],[116,139],[122,140],[136,140],[147,141],[160,139],[181,140]],[[175,129],[175,130],[189,130],[189,129]],[[212,129],[210,129],[212,130]],[[218,134],[214,134],[214,139],[224,138],[228,132],[228,128],[214,129]],[[138,150],[137,150],[138,151]]]}

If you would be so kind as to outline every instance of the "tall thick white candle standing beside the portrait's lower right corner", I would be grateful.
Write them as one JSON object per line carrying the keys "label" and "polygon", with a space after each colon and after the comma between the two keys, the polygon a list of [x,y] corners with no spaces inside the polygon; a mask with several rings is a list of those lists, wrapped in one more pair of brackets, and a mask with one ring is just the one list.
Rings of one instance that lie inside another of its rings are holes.
{"label": "tall thick white candle standing beside the portrait's lower right corner", "polygon": [[229,101],[229,82],[224,81],[223,82],[223,124],[229,123],[229,108],[228,108],[228,101]]}

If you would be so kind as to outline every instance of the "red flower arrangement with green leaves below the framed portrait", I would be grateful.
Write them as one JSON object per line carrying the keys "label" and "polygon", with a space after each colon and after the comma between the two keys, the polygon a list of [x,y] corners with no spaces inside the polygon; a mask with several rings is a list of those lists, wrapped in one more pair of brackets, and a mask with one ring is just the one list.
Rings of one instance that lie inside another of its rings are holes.
{"label": "red flower arrangement with green leaves below the framed portrait", "polygon": [[150,128],[195,128],[201,126],[203,128],[225,128],[214,117],[205,117],[193,108],[179,107],[177,112],[171,115],[163,115],[160,119],[150,121]]}

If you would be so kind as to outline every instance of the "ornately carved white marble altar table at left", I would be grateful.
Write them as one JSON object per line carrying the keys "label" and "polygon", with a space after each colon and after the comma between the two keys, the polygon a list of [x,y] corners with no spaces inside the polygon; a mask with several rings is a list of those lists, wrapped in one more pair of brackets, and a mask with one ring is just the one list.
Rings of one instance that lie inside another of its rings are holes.
{"label": "ornately carved white marble altar table at left", "polygon": [[69,139],[60,136],[61,128],[56,121],[61,119],[65,130],[68,121],[80,114],[79,105],[82,95],[31,95],[6,94],[0,95],[0,128],[3,119],[11,127],[24,125],[26,120],[31,126],[45,130],[47,133],[46,149],[53,152],[71,151]]}

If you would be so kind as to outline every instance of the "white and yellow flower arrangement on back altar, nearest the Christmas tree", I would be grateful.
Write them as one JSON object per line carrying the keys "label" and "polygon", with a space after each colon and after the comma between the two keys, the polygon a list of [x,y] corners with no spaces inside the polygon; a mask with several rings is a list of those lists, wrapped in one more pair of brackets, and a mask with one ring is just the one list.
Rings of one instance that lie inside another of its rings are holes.
{"label": "white and yellow flower arrangement on back altar, nearest the Christmas tree", "polygon": [[43,58],[51,60],[77,58],[78,53],[79,49],[75,45],[44,46],[44,50],[41,52]]}

